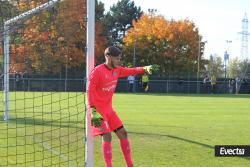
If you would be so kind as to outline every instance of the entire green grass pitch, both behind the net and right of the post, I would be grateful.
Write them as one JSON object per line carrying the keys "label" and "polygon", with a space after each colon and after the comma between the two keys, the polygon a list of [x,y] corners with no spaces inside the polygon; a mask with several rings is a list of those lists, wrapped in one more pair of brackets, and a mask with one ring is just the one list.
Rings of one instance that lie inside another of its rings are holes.
{"label": "entire green grass pitch, both behind the net and right of the post", "polygon": [[[15,98],[10,120],[0,121],[1,166],[84,166],[82,93]],[[250,95],[118,93],[113,105],[136,167],[250,167],[250,158],[214,156],[214,145],[250,145]],[[95,167],[103,167],[100,138],[94,143]],[[115,134],[112,149],[113,166],[125,166]]]}

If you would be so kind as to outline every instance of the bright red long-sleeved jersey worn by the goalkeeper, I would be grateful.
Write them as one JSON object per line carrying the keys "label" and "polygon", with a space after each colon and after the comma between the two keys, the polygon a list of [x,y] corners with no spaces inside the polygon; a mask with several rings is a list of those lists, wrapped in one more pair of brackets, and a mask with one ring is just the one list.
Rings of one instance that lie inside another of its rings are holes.
{"label": "bright red long-sleeved jersey worn by the goalkeeper", "polygon": [[112,107],[117,80],[121,77],[144,73],[143,67],[109,69],[105,64],[95,67],[88,78],[87,97],[89,107]]}

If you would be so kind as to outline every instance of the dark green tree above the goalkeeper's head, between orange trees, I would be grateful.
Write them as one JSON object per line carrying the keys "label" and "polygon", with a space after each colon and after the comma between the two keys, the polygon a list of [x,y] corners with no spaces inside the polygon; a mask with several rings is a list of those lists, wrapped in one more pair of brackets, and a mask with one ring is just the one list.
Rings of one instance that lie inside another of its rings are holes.
{"label": "dark green tree above the goalkeeper's head, between orange trees", "polygon": [[109,45],[122,44],[126,31],[132,27],[132,21],[138,20],[142,14],[141,8],[134,1],[119,0],[104,17],[104,34]]}

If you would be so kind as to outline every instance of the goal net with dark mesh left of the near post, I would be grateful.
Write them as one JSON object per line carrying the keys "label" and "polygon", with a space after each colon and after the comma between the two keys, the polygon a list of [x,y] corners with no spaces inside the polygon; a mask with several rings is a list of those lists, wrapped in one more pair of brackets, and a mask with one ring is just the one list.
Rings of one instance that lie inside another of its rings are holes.
{"label": "goal net with dark mesh left of the near post", "polygon": [[86,1],[54,2],[1,25],[1,166],[84,166]]}

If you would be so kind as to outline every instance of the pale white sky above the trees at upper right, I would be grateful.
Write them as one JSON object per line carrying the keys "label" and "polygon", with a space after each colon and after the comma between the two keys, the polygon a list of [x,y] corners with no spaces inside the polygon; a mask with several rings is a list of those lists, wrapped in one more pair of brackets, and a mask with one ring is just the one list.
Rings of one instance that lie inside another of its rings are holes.
{"label": "pale white sky above the trees at upper right", "polygon": [[[105,9],[118,0],[99,0]],[[199,28],[203,41],[207,41],[205,57],[218,54],[223,57],[229,48],[230,57],[239,57],[241,50],[242,19],[250,18],[250,0],[134,0],[144,12],[157,9],[166,19],[193,21]],[[227,43],[231,40],[232,43]],[[248,43],[249,47],[249,43]],[[248,51],[250,52],[250,51]]]}

